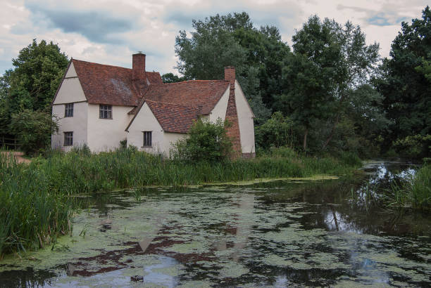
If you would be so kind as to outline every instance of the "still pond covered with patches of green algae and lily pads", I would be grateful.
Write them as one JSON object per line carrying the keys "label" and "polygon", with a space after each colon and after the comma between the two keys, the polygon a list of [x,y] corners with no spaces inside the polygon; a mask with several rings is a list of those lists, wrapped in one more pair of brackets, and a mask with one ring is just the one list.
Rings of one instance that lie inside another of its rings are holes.
{"label": "still pond covered with patches of green algae and lily pads", "polygon": [[414,168],[83,197],[73,235],[6,256],[0,287],[430,286],[431,216],[363,197]]}

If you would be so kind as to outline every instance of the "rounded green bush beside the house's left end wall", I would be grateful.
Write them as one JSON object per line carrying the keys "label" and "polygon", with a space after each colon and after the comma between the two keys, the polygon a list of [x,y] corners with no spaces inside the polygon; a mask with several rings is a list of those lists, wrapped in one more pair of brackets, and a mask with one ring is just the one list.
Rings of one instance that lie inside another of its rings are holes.
{"label": "rounded green bush beside the house's left end wall", "polygon": [[12,115],[10,131],[18,137],[21,149],[31,154],[51,145],[51,134],[58,132],[58,124],[50,113],[26,109]]}

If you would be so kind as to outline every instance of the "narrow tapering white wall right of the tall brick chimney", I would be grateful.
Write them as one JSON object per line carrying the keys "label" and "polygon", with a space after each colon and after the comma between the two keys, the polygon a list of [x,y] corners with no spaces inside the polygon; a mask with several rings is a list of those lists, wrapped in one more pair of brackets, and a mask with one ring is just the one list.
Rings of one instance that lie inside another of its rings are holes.
{"label": "narrow tapering white wall right of the tall brick chimney", "polygon": [[237,105],[239,138],[241,139],[242,152],[254,153],[254,115],[238,81],[235,81],[235,104]]}

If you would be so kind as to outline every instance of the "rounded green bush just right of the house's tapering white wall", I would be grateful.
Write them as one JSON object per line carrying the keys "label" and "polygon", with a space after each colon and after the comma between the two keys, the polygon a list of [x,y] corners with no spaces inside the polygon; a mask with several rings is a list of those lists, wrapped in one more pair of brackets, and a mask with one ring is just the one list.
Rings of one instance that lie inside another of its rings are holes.
{"label": "rounded green bush just right of the house's tapering white wall", "polygon": [[275,112],[261,126],[255,129],[255,140],[258,148],[268,149],[270,147],[294,147],[293,123],[281,112]]}

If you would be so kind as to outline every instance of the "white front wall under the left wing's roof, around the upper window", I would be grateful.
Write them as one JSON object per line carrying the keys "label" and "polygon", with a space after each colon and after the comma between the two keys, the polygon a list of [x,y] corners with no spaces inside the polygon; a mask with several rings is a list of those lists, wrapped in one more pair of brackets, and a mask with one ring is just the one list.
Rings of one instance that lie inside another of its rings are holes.
{"label": "white front wall under the left wing's roof, around the upper window", "polygon": [[92,152],[115,150],[120,141],[125,140],[124,129],[133,115],[127,114],[132,109],[128,106],[112,106],[112,119],[99,118],[99,104],[88,105],[87,145]]}

